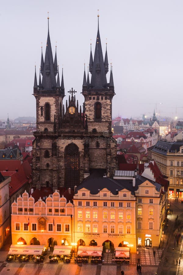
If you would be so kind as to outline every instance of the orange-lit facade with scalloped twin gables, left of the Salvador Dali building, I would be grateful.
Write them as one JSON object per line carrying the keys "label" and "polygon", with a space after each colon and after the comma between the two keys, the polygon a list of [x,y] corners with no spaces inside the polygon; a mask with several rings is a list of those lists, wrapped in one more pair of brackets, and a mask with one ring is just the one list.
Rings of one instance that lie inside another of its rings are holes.
{"label": "orange-lit facade with scalloped twin gables, left of the Salvador Dali building", "polygon": [[74,207],[58,191],[45,201],[25,191],[12,204],[12,244],[69,245],[73,236]]}

